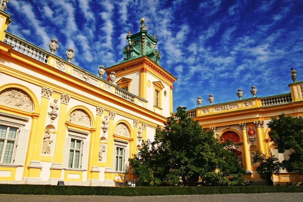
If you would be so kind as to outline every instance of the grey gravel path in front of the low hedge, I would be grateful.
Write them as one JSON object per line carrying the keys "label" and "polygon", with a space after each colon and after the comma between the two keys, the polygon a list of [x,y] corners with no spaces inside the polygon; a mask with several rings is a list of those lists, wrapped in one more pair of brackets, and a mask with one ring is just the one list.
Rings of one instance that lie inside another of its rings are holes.
{"label": "grey gravel path in front of the low hedge", "polygon": [[78,195],[18,195],[0,194],[1,201],[30,201],[30,202],[75,202],[75,201],[101,201],[101,202],[121,202],[121,201],[207,201],[207,202],[259,202],[259,201],[303,201],[303,193],[252,193],[252,194],[218,194],[218,195],[170,195],[170,196],[78,196]]}

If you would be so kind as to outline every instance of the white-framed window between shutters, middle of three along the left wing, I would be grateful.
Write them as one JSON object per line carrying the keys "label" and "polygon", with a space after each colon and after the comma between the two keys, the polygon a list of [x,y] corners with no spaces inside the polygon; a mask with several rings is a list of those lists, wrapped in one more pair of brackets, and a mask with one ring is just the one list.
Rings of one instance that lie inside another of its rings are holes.
{"label": "white-framed window between shutters, middle of three along the left wing", "polygon": [[78,139],[71,139],[71,148],[69,154],[68,167],[69,168],[79,168],[80,157],[82,155],[82,144],[83,142]]}

